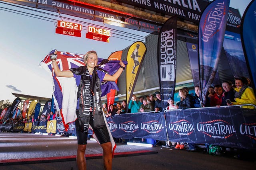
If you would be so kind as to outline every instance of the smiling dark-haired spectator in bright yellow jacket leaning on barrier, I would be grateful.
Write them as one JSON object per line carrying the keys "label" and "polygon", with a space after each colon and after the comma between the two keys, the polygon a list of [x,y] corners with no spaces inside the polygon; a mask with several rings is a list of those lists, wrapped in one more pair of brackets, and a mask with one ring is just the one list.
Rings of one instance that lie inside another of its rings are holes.
{"label": "smiling dark-haired spectator in bright yellow jacket leaning on barrier", "polygon": [[[254,104],[256,106],[256,98],[253,92],[253,89],[247,85],[248,81],[245,77],[235,78],[236,91],[235,101],[232,102],[232,105],[241,105],[241,104]],[[230,106],[230,104],[228,104]],[[255,109],[253,106],[243,106],[243,108]]]}

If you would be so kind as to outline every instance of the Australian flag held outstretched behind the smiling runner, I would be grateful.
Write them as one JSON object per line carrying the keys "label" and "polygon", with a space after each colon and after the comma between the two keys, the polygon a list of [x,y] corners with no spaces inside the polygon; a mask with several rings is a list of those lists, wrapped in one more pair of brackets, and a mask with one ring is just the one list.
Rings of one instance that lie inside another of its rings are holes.
{"label": "Australian flag held outstretched behind the smiling runner", "polygon": [[[84,66],[84,55],[76,53],[68,53],[63,51],[52,50],[41,61],[39,66],[42,66],[52,75],[54,82],[53,98],[57,111],[60,111],[64,126],[68,128],[68,123],[76,120],[76,104],[77,104],[77,86],[80,83],[80,78],[66,78],[56,77],[52,69],[52,61],[50,55],[57,54],[57,64],[60,70],[69,70]],[[120,61],[109,61],[98,58],[98,67],[102,69],[105,74],[113,75],[118,68],[120,68]],[[127,64],[127,62],[123,62]],[[118,90],[116,82],[104,81],[101,84],[102,95],[105,96],[111,89]]]}

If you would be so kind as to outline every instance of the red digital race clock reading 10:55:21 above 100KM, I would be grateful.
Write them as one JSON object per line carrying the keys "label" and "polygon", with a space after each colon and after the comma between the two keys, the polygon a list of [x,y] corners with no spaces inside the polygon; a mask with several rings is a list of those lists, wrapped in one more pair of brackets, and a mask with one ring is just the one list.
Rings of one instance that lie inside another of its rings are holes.
{"label": "red digital race clock reading 10:55:21 above 100KM", "polygon": [[58,20],[55,33],[81,37],[81,31],[82,25],[79,23]]}

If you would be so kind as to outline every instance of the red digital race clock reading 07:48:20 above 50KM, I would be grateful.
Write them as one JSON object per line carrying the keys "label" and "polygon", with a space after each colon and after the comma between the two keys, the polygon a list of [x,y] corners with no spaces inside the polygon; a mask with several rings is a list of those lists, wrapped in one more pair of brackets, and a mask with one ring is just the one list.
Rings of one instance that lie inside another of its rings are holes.
{"label": "red digital race clock reading 07:48:20 above 50KM", "polygon": [[87,27],[86,38],[108,43],[110,36],[110,30],[108,29],[98,28],[90,25]]}

